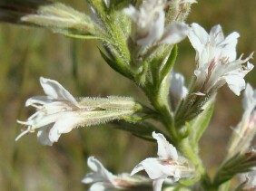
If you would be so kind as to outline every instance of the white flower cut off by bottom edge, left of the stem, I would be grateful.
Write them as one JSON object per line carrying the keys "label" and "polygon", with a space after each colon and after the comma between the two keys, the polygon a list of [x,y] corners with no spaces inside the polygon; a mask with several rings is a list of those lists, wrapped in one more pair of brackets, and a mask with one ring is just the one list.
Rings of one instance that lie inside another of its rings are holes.
{"label": "white flower cut off by bottom edge, left of the stem", "polygon": [[84,184],[92,184],[89,191],[103,191],[103,190],[116,190],[116,189],[129,189],[140,190],[140,188],[148,187],[149,179],[145,177],[131,177],[128,173],[115,176],[110,173],[102,163],[94,157],[87,160],[88,167],[93,172],[87,174],[82,182]]}

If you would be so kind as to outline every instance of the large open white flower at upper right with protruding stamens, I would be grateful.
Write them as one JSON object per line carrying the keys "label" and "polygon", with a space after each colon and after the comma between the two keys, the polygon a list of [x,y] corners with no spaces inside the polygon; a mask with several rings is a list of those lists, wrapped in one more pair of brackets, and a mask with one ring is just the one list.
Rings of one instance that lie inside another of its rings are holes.
{"label": "large open white flower at upper right with protruding stamens", "polygon": [[[216,91],[227,83],[231,91],[240,95],[245,88],[243,78],[253,65],[248,62],[252,53],[244,60],[241,57],[236,59],[239,33],[234,32],[224,38],[220,25],[212,27],[208,34],[199,24],[192,24],[188,37],[196,50],[197,68],[194,74],[197,77],[197,91]],[[248,62],[247,65],[243,64],[245,62]]]}

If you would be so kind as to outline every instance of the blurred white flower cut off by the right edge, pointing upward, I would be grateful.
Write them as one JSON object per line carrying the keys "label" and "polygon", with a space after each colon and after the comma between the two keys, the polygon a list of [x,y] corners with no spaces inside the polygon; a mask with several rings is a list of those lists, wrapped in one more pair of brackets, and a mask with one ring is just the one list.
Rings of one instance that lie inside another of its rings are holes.
{"label": "blurred white flower cut off by the right edge, pointing upward", "polygon": [[242,100],[243,115],[231,137],[231,145],[228,149],[228,157],[235,153],[246,152],[251,146],[251,140],[256,133],[256,90],[248,83]]}

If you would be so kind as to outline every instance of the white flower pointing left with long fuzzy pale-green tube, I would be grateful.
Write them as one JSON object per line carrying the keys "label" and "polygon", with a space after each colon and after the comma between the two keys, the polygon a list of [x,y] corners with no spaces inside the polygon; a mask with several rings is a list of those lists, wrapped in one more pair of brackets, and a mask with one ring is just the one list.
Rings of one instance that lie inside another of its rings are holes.
{"label": "white flower pointing left with long fuzzy pale-green tube", "polygon": [[[134,101],[128,98],[76,100],[58,81],[41,77],[40,83],[46,95],[26,100],[25,106],[33,106],[37,111],[26,121],[18,121],[27,126],[27,129],[15,140],[38,129],[37,138],[41,144],[53,145],[61,134],[74,128],[121,119],[135,111]],[[94,110],[96,108],[101,110]]]}

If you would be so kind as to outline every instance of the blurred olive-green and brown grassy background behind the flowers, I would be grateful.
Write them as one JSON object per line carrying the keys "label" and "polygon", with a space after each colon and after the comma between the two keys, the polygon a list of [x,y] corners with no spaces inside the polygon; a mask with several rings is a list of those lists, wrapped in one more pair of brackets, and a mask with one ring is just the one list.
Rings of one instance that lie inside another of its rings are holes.
{"label": "blurred olive-green and brown grassy background behind the flowers", "polygon": [[[88,10],[84,1],[65,3],[80,11]],[[188,23],[202,24],[207,31],[214,24],[222,24],[225,34],[241,33],[238,53],[247,56],[256,49],[255,8],[254,0],[199,0],[192,6]],[[155,144],[109,125],[74,129],[62,135],[53,147],[40,145],[36,133],[15,142],[22,128],[16,119],[25,120],[34,112],[24,107],[25,100],[43,94],[40,76],[59,81],[75,97],[123,95],[145,100],[131,81],[103,62],[98,45],[44,29],[0,24],[1,190],[86,190],[81,180],[88,172],[88,156],[99,158],[105,167],[121,173],[131,172],[143,158],[156,155]],[[194,55],[188,40],[182,42],[175,67],[188,78],[194,68]],[[256,70],[246,77],[254,87],[255,74]],[[230,127],[240,119],[241,98],[222,88],[211,127],[202,138],[201,155],[210,172],[225,153]]]}

